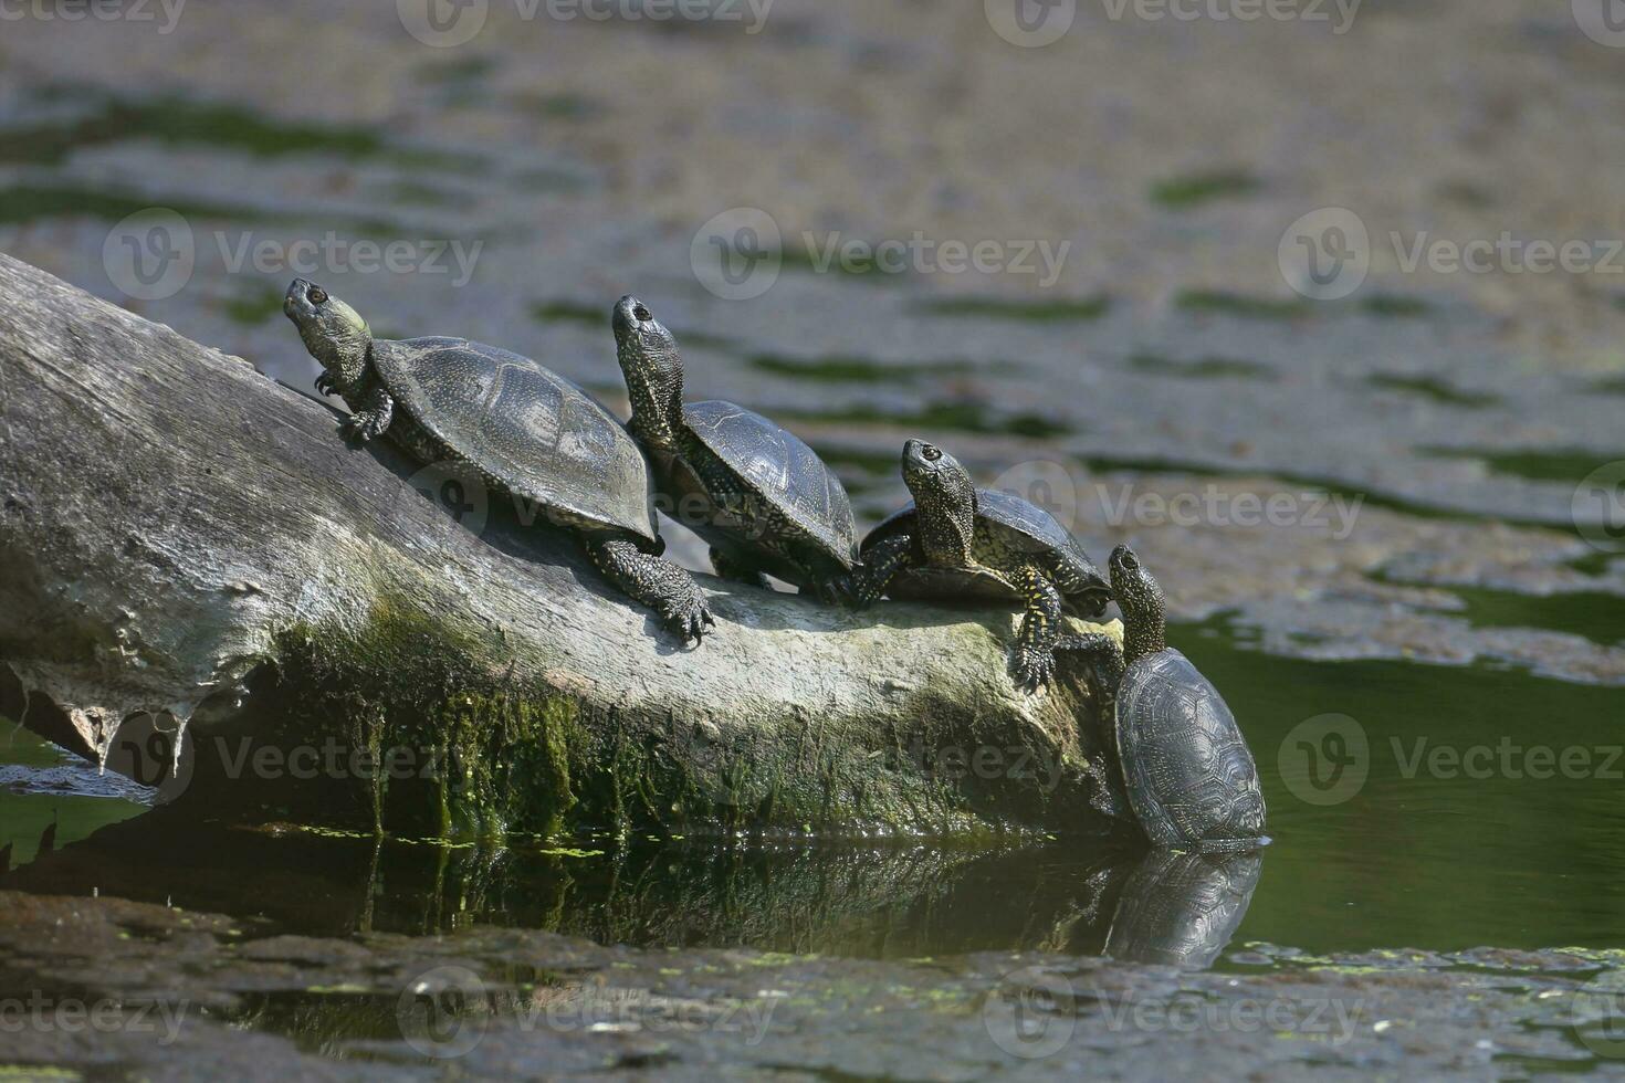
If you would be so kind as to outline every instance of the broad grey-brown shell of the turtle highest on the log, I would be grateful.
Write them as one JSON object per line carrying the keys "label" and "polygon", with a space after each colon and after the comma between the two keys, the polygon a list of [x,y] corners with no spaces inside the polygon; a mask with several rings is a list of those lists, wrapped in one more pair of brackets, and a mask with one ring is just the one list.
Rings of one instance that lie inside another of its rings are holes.
{"label": "broad grey-brown shell of the turtle highest on the log", "polygon": [[462,338],[375,341],[372,364],[396,406],[486,481],[572,526],[658,539],[642,450],[564,377]]}

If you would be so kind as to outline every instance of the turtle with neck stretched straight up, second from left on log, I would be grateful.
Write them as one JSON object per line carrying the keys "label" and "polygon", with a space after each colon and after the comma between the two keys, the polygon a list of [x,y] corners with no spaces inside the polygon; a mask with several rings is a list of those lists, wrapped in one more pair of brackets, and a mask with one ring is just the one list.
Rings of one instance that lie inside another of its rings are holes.
{"label": "turtle with neck stretched straight up, second from left on log", "polygon": [[682,401],[678,341],[637,297],[614,307],[632,435],[655,466],[663,510],[710,544],[725,580],[767,575],[843,601],[858,524],[840,477],[793,432],[734,403]]}

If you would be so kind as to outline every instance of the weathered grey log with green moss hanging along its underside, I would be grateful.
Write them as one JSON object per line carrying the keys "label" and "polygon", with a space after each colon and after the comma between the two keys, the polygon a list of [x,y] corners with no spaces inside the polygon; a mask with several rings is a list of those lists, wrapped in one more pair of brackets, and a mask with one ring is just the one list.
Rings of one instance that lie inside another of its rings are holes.
{"label": "weathered grey log with green moss hanging along its underside", "polygon": [[0,708],[39,693],[49,737],[167,770],[190,719],[187,800],[427,831],[1105,822],[1086,682],[1016,693],[1009,614],[705,578],[678,649],[569,537],[468,529],[244,360],[5,257],[0,294]]}

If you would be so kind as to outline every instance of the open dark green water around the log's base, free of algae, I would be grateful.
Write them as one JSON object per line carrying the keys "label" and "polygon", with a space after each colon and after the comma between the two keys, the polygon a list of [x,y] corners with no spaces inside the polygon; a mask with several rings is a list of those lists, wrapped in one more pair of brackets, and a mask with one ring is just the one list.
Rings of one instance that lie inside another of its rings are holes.
{"label": "open dark green water around the log's base, free of algae", "polygon": [[[1222,622],[1172,638],[1225,692],[1269,800],[1274,844],[1232,950],[1625,947],[1625,692],[1488,667],[1282,659],[1250,649]],[[1326,714],[1341,747],[1303,727]],[[39,768],[42,749],[20,734],[6,755]],[[1311,776],[1328,783],[1339,757],[1355,760],[1341,787],[1316,789]],[[1363,783],[1350,786],[1362,766]],[[94,781],[80,773],[81,786]],[[1339,800],[1315,804],[1328,794]],[[653,947],[1098,953],[1123,921],[1123,883],[1144,862],[1063,843],[980,851],[587,838],[491,851],[270,835],[167,810],[128,820],[141,805],[73,789],[0,792],[0,844],[13,843],[20,865],[0,888],[167,900],[304,934],[491,922]],[[52,810],[58,852],[31,861]]]}

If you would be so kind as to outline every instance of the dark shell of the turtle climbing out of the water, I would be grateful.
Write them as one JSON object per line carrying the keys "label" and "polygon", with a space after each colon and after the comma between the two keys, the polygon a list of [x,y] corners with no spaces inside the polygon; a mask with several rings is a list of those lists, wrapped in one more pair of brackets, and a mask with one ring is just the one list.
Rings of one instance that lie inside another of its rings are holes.
{"label": "dark shell of the turtle climbing out of the water", "polygon": [[1219,690],[1168,648],[1136,659],[1116,693],[1116,742],[1134,818],[1159,846],[1261,844],[1258,765]]}

